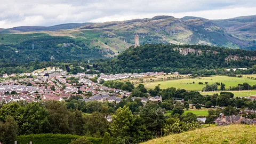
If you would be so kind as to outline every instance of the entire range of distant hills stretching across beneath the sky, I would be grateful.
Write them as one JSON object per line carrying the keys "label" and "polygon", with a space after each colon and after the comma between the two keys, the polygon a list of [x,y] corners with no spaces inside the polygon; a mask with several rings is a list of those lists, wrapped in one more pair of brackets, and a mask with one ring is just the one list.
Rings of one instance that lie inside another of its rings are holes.
{"label": "entire range of distant hills stretching across beneath the sky", "polygon": [[[151,19],[134,19],[103,23],[67,23],[51,27],[14,27],[0,29],[0,45],[5,49],[22,49],[29,43],[47,49],[49,45],[39,45],[47,37],[72,39],[74,49],[95,49],[99,57],[114,57],[134,44],[134,35],[139,35],[143,44],[200,44],[232,49],[256,50],[256,15],[222,20],[209,20],[198,17],[177,19],[171,16],[156,16]],[[49,41],[49,40],[47,40]],[[26,45],[23,45],[26,44]],[[65,45],[65,43],[52,43]],[[32,45],[32,44],[31,44]],[[52,46],[53,46],[52,45]],[[46,46],[46,47],[45,47]],[[30,49],[30,47],[26,48]],[[31,50],[33,54],[33,50]],[[37,50],[37,53],[44,49]],[[8,51],[6,51],[8,52]],[[76,53],[73,53],[76,54]],[[58,55],[51,55],[57,58]],[[51,60],[50,56],[44,60]]]}

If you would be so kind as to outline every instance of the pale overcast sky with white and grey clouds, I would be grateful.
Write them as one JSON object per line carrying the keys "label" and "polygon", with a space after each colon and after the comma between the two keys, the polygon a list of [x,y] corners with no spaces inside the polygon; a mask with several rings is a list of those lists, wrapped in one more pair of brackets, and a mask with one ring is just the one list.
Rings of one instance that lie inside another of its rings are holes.
{"label": "pale overcast sky with white and grey clouds", "polygon": [[156,15],[224,19],[254,14],[255,0],[0,0],[0,28],[105,22]]}

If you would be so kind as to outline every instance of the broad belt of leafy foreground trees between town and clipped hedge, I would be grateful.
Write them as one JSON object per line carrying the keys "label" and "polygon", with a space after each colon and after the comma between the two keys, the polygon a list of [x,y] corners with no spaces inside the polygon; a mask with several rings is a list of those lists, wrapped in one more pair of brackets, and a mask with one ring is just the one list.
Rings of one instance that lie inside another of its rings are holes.
{"label": "broad belt of leafy foreground trees between town and clipped hedge", "polygon": [[[163,108],[167,105],[171,105],[174,112],[166,117]],[[0,108],[0,141],[11,143],[17,140],[17,135],[42,133],[103,138],[108,132],[113,143],[139,143],[200,128],[196,115],[183,114],[183,108],[180,102],[142,104],[139,99],[131,98],[119,103],[83,102],[76,97],[66,102],[11,102]],[[109,114],[111,122],[106,119]],[[170,131],[177,125],[179,129]]]}

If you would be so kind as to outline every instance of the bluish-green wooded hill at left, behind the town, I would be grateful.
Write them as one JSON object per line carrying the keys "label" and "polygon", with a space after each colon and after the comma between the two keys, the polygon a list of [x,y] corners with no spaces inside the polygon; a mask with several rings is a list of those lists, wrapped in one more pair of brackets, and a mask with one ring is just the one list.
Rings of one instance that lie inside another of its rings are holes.
{"label": "bluish-green wooded hill at left, behind the town", "polygon": [[[1,41],[1,40],[0,40]],[[34,44],[34,48],[33,48]],[[0,45],[0,63],[103,58],[105,52],[69,37],[41,36],[18,44]]]}

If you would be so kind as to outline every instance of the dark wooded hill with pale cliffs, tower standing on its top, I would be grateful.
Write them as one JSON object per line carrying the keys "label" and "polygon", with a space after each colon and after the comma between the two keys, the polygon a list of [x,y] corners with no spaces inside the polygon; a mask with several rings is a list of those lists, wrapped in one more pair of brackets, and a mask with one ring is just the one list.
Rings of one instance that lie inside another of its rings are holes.
{"label": "dark wooded hill with pale cliffs, tower standing on its top", "polygon": [[145,44],[130,47],[112,60],[99,62],[105,73],[141,73],[179,71],[192,73],[202,69],[251,68],[256,51],[226,49],[205,45]]}

